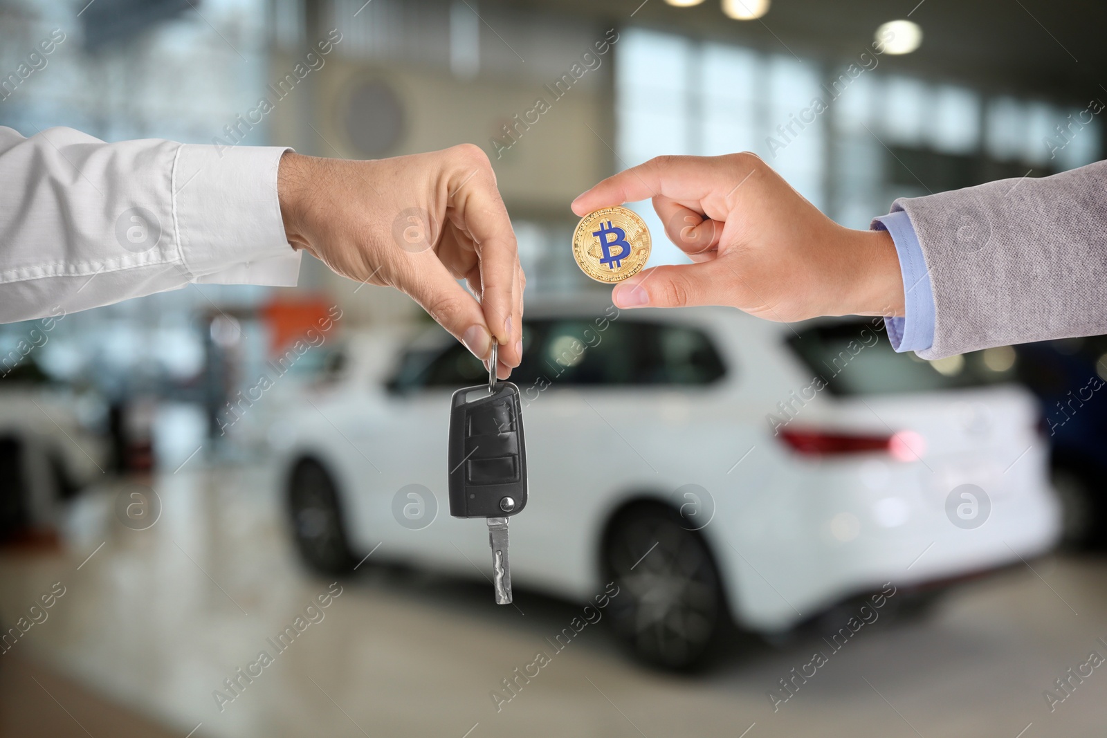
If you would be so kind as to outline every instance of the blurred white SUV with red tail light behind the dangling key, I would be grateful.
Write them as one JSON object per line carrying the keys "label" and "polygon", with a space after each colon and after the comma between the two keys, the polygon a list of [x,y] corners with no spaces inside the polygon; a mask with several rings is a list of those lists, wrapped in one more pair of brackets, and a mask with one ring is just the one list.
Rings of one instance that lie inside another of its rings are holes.
{"label": "blurred white SUV with red tail light behind the dangling key", "polygon": [[[731,624],[780,632],[886,582],[1047,551],[1047,445],[1011,362],[896,354],[882,326],[528,304],[516,586],[587,600],[614,580],[615,632],[680,668]],[[380,544],[374,560],[490,572],[483,521],[451,518],[446,487],[451,394],[486,381],[437,328],[350,342],[272,434],[312,567],[348,571]]]}

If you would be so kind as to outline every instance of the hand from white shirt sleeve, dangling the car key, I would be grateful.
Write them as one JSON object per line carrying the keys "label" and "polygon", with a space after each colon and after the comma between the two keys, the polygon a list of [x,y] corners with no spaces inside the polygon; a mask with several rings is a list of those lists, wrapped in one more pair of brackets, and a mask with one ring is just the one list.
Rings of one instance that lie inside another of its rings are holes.
{"label": "hand from white shirt sleeve, dangling the car key", "polygon": [[278,194],[293,248],[350,279],[406,292],[482,361],[498,343],[499,376],[519,365],[527,280],[478,147],[369,162],[288,152]]}

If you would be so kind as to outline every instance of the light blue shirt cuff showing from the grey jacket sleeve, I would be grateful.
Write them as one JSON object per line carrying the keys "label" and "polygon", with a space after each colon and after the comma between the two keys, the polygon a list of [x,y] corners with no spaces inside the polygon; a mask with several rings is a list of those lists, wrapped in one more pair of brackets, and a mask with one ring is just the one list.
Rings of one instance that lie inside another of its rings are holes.
{"label": "light blue shirt cuff showing from the grey jacket sleeve", "polygon": [[891,235],[903,274],[903,318],[884,319],[892,349],[899,352],[925,351],[934,343],[934,292],[911,219],[907,212],[897,209],[875,218],[870,228]]}

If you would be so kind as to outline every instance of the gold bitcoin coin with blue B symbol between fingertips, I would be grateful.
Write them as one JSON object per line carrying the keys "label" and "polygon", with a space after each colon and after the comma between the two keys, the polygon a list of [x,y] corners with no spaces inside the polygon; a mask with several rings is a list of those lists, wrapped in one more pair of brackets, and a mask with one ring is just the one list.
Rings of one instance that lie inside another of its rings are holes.
{"label": "gold bitcoin coin with blue B symbol between fingertips", "polygon": [[572,256],[597,282],[621,282],[640,272],[650,258],[650,229],[633,210],[601,208],[577,224]]}

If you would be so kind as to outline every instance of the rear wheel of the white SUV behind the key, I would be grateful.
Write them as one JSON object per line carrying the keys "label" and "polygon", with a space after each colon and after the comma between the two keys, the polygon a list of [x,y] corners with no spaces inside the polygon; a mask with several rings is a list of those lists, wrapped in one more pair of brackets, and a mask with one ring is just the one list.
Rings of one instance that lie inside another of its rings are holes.
{"label": "rear wheel of the white SUV behind the key", "polygon": [[638,659],[671,671],[703,667],[731,628],[718,569],[703,536],[661,503],[638,503],[612,520],[601,570],[614,582],[609,622]]}

